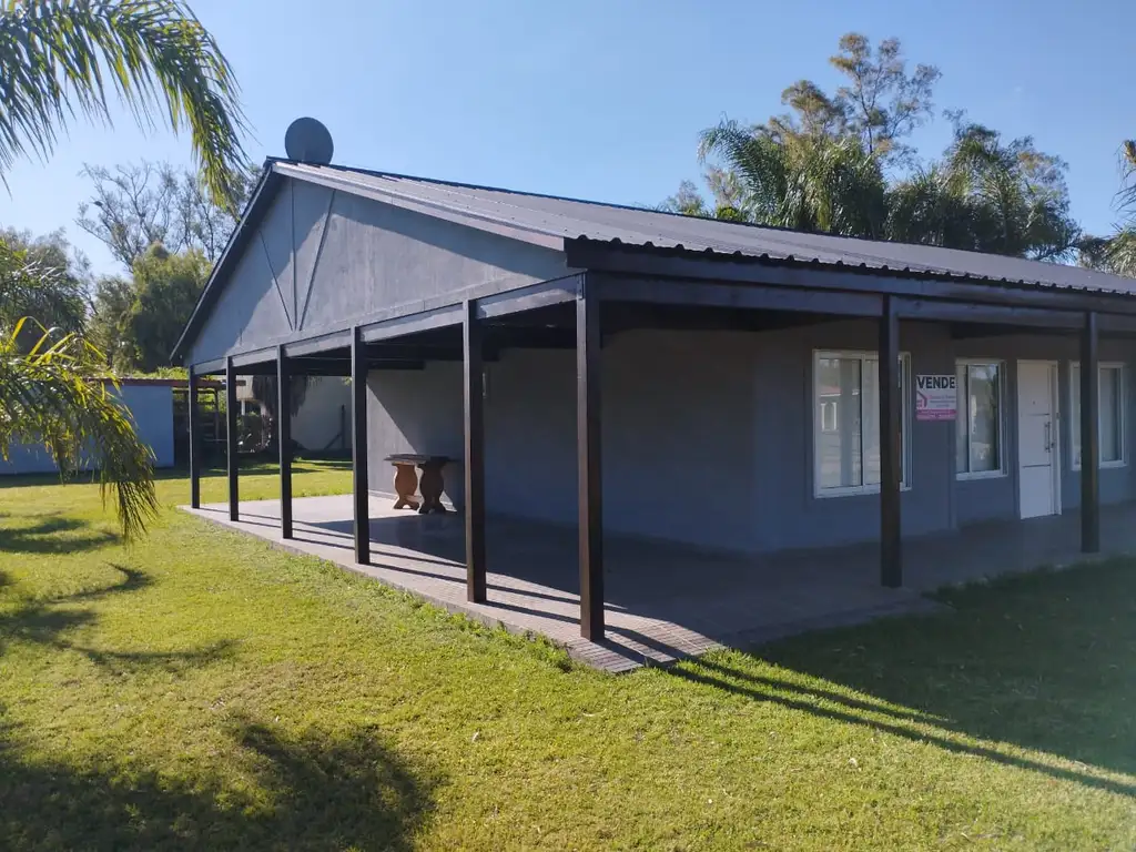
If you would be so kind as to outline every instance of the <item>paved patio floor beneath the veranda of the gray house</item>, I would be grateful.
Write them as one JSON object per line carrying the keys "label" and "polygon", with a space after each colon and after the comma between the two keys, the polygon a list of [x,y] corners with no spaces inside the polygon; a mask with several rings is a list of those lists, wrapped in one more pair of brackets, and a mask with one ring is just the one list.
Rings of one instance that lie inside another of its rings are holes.
{"label": "paved patio floor beneath the veranda of the gray house", "polygon": [[[452,612],[519,634],[546,636],[568,653],[609,671],[665,665],[715,648],[753,646],[786,635],[885,615],[930,611],[922,592],[1030,568],[1079,561],[1076,515],[989,524],[962,533],[908,540],[904,587],[878,580],[878,549],[858,545],[772,556],[707,552],[673,543],[609,535],[604,540],[607,640],[579,635],[576,531],[491,518],[488,602],[466,601],[465,527],[460,515],[396,511],[370,500],[371,560],[354,561],[351,496],[293,501],[294,537],[279,536],[279,502],[186,509],[286,550],[319,557],[410,592]],[[1131,506],[1103,512],[1108,552],[1136,550]]]}

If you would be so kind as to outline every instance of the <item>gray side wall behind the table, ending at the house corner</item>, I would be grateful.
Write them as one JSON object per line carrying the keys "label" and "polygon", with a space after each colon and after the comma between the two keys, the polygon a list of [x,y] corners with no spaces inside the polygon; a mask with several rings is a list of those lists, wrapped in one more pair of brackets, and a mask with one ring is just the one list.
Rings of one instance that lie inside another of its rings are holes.
{"label": "gray side wall behind the table, ending at the house corner", "polygon": [[[613,531],[733,550],[757,546],[751,517],[753,370],[746,334],[628,333],[604,348],[604,517]],[[392,452],[461,456],[461,365],[373,373],[371,487]],[[727,416],[722,416],[728,412]],[[576,521],[576,357],[511,350],[486,367],[491,511]],[[461,502],[459,465],[446,491]]]}

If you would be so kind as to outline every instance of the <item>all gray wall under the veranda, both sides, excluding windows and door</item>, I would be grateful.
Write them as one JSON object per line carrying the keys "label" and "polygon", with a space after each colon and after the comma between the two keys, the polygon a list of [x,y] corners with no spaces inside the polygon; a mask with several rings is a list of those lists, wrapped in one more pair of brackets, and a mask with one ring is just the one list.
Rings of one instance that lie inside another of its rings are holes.
{"label": "all gray wall under the veranda, both sides, excluding windows and door", "polygon": [[[908,323],[901,350],[912,374],[952,374],[957,358],[1005,361],[1005,476],[955,478],[951,421],[917,421],[908,400],[909,485],[903,533],[1018,517],[1017,359],[1060,361],[1068,417],[1076,340],[953,341],[945,326]],[[871,541],[875,493],[818,498],[813,490],[813,353],[876,348],[876,325],[834,321],[765,333],[630,332],[603,350],[604,523],[612,532],[767,552]],[[1131,361],[1104,341],[1102,361]],[[576,376],[570,351],[508,351],[486,367],[486,501],[493,512],[576,520]],[[1130,384],[1131,371],[1126,370]],[[461,456],[461,366],[373,373],[368,386],[371,487],[389,492],[391,452]],[[1126,393],[1129,452],[1133,394]],[[1061,429],[1062,504],[1079,503]],[[1130,457],[1129,457],[1130,458]],[[461,503],[461,468],[446,471]],[[1102,500],[1136,496],[1133,466],[1101,471]]]}

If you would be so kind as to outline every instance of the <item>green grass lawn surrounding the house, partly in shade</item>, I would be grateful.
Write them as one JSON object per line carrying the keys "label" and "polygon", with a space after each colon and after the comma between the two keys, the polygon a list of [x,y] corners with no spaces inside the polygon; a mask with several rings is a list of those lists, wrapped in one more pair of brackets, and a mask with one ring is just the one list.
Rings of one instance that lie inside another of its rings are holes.
{"label": "green grass lawn surrounding the house, partly in shade", "polygon": [[945,598],[616,677],[172,508],[126,550],[95,487],[25,481],[0,847],[1133,849],[1136,563]]}

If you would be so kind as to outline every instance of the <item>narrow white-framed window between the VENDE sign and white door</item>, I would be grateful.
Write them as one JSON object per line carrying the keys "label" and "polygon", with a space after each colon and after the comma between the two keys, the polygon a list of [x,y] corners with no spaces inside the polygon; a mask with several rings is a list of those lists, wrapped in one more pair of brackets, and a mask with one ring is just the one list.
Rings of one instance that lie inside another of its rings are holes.
{"label": "narrow white-framed window between the VENDE sign and white door", "polygon": [[1005,476],[1005,365],[961,359],[955,362],[959,414],[955,476],[985,479]]}

